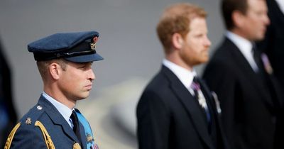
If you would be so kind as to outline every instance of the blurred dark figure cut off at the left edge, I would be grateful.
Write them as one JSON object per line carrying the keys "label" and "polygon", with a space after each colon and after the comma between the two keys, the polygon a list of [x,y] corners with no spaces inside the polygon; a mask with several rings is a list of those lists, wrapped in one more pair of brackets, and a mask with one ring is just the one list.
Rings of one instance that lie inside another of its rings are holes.
{"label": "blurred dark figure cut off at the left edge", "polygon": [[11,70],[0,42],[0,148],[4,148],[6,138],[17,122],[11,77]]}

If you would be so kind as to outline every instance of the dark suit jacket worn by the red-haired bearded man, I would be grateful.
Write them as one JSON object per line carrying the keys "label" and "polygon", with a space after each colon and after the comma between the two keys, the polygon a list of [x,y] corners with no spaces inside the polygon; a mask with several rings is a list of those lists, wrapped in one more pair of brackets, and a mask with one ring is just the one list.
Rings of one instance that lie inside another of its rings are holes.
{"label": "dark suit jacket worn by the red-haired bearded man", "polygon": [[140,149],[227,148],[214,99],[205,85],[201,86],[212,117],[209,126],[197,100],[173,72],[162,67],[138,102]]}

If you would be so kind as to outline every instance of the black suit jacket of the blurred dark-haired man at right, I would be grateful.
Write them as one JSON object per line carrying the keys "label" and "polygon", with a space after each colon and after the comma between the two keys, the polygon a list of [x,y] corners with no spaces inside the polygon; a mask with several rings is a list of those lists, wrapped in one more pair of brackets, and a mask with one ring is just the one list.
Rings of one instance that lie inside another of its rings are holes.
{"label": "black suit jacket of the blurred dark-haired man at right", "polygon": [[203,77],[219,97],[230,146],[273,148],[281,99],[275,78],[268,75],[272,86],[267,86],[228,38],[214,53]]}

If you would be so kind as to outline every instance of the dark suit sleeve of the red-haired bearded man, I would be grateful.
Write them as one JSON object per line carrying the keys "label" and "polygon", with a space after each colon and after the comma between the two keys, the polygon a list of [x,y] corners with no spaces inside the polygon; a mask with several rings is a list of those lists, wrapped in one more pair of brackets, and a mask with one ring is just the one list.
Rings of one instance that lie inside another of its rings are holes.
{"label": "dark suit sleeve of the red-haired bearded man", "polygon": [[167,149],[170,115],[163,100],[155,92],[146,91],[137,106],[139,149]]}

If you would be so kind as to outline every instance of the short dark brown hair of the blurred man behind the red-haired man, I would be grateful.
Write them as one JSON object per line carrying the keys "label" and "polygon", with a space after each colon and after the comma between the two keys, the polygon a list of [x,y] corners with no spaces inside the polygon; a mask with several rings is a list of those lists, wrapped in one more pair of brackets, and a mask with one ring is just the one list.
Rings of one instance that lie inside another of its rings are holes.
{"label": "short dark brown hair of the blurred man behind the red-haired man", "polygon": [[240,11],[241,13],[246,14],[248,8],[248,0],[222,0],[221,9],[226,29],[231,30],[235,26],[231,17],[234,11]]}

